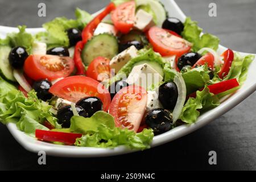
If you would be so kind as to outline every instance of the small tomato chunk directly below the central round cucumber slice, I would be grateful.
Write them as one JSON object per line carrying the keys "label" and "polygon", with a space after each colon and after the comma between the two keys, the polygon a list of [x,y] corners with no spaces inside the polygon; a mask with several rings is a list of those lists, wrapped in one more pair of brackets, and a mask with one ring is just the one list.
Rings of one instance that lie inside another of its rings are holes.
{"label": "small tomato chunk directly below the central round cucumber slice", "polygon": [[110,78],[109,62],[110,60],[108,58],[96,57],[96,59],[90,63],[86,71],[86,76],[98,81],[108,80],[108,78]]}

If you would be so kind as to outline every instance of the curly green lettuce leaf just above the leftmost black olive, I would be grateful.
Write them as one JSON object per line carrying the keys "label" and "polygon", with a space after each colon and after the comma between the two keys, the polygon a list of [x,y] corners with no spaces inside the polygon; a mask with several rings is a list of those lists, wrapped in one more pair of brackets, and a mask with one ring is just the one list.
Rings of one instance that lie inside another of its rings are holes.
{"label": "curly green lettuce leaf just above the leftmost black olive", "polygon": [[34,42],[33,36],[26,32],[26,26],[18,26],[18,28],[18,33],[11,33],[7,35],[5,43],[9,42],[11,47],[22,46],[26,48],[27,52],[31,52],[32,44]]}

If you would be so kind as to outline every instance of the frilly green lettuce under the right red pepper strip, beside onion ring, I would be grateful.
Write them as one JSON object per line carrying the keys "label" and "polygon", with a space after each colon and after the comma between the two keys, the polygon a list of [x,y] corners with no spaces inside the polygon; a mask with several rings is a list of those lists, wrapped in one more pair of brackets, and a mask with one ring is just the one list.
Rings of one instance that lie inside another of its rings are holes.
{"label": "frilly green lettuce under the right red pepper strip, beside onion ring", "polygon": [[[195,123],[200,113],[213,109],[220,105],[218,97],[209,92],[205,86],[204,90],[196,92],[196,98],[190,97],[182,109],[180,119],[185,123]],[[200,111],[199,111],[200,110]]]}

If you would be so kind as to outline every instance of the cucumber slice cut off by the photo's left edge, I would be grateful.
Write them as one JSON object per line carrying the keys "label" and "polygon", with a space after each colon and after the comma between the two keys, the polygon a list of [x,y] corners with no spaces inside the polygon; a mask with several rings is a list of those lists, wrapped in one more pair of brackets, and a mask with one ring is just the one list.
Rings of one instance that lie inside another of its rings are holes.
{"label": "cucumber slice cut off by the photo's left edge", "polygon": [[13,68],[9,64],[9,53],[11,51],[11,47],[9,46],[0,46],[0,72],[6,80],[16,81],[13,76]]}

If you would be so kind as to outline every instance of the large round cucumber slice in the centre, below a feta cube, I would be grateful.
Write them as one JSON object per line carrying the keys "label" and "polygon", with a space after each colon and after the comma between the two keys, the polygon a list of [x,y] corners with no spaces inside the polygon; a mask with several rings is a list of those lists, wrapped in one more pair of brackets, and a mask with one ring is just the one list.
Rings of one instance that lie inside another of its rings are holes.
{"label": "large round cucumber slice in the centre, below a feta cube", "polygon": [[89,65],[92,60],[98,56],[112,59],[118,54],[117,38],[110,34],[100,34],[94,36],[86,43],[82,50],[82,61],[85,65]]}

